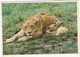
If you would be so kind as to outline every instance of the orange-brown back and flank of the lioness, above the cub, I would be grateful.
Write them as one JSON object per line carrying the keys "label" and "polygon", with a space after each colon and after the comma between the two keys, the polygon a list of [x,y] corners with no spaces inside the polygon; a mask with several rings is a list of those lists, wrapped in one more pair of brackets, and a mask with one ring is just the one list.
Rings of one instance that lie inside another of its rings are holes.
{"label": "orange-brown back and flank of the lioness, above the cub", "polygon": [[45,28],[46,26],[50,24],[55,24],[57,21],[59,21],[59,19],[53,14],[41,12],[41,13],[38,13],[38,15],[42,17],[43,28]]}

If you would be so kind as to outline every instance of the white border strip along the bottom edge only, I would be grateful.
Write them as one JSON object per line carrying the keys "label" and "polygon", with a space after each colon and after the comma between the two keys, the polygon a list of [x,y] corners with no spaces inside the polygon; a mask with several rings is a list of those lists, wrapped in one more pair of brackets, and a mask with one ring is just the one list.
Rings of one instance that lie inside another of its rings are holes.
{"label": "white border strip along the bottom edge only", "polygon": [[57,54],[57,55],[4,55],[3,57],[78,57],[78,54]]}

